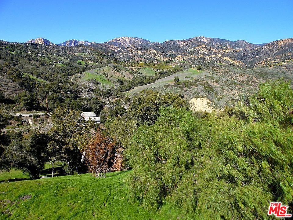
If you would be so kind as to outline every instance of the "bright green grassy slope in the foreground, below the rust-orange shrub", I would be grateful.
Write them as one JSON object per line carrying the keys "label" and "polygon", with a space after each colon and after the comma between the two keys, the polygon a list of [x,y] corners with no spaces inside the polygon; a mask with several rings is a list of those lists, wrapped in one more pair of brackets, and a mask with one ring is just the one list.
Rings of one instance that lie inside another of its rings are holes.
{"label": "bright green grassy slope in the foreground, below the rust-orange shrub", "polygon": [[154,213],[129,199],[124,180],[130,172],[1,183],[0,219],[176,219],[165,207]]}

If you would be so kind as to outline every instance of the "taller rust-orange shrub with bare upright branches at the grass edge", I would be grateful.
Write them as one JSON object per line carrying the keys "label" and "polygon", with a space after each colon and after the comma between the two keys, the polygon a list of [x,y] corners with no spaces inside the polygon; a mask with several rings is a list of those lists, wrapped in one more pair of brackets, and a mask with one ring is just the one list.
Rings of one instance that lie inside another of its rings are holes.
{"label": "taller rust-orange shrub with bare upright branches at the grass edge", "polygon": [[109,163],[114,156],[115,143],[100,131],[89,141],[85,147],[85,159],[89,171],[95,177],[105,178],[105,173],[110,170]]}

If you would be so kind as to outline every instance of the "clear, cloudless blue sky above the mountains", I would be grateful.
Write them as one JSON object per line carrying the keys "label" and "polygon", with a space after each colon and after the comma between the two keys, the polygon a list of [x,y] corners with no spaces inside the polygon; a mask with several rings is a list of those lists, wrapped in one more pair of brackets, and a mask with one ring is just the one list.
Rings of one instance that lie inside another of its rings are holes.
{"label": "clear, cloudless blue sky above the mountains", "polygon": [[0,39],[105,42],[129,36],[164,42],[195,36],[251,43],[293,37],[293,0],[0,0]]}

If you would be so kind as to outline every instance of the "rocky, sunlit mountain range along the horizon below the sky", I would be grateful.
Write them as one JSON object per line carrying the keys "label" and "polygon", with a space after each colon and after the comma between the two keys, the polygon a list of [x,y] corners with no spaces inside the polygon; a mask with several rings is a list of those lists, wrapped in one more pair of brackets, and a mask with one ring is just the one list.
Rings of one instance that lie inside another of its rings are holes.
{"label": "rocky, sunlit mountain range along the horizon below the sky", "polygon": [[[44,38],[32,39],[26,43],[54,45]],[[252,44],[244,40],[230,41],[203,36],[186,40],[168,40],[163,43],[150,42],[137,37],[120,37],[104,43],[73,39],[57,45],[91,46],[118,60],[171,61],[190,64],[224,63],[241,68],[293,58],[293,38]]]}

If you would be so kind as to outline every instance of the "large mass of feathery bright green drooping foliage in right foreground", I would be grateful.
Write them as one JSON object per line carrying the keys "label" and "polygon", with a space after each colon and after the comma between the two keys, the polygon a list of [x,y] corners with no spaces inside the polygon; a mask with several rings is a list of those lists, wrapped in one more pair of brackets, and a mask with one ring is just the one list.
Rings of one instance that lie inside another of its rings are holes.
{"label": "large mass of feathery bright green drooping foliage in right foreground", "polygon": [[191,219],[268,219],[269,202],[292,204],[292,89],[262,84],[248,102],[197,117],[161,109],[126,149],[131,196]]}

